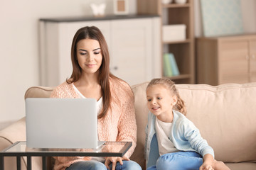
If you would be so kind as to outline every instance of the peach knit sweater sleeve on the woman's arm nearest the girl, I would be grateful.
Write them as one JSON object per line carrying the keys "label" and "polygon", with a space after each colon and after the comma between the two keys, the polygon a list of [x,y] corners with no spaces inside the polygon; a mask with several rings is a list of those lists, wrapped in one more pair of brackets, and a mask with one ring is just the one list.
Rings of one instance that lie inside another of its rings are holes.
{"label": "peach knit sweater sleeve on the woman's arm nearest the girl", "polygon": [[119,118],[119,134],[117,136],[117,141],[128,141],[132,142],[132,147],[124,154],[124,157],[131,157],[137,142],[137,124],[135,118],[135,107],[134,107],[134,94],[132,89],[129,88],[127,94],[121,99],[122,109]]}

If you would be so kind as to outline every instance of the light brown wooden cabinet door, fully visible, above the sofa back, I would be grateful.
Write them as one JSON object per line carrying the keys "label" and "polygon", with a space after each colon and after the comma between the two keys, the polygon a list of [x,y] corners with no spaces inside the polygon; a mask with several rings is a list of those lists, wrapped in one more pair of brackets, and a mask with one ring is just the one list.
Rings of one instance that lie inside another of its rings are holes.
{"label": "light brown wooden cabinet door, fully visible, above the sofa back", "polygon": [[227,40],[220,42],[219,47],[219,84],[248,82],[247,40]]}

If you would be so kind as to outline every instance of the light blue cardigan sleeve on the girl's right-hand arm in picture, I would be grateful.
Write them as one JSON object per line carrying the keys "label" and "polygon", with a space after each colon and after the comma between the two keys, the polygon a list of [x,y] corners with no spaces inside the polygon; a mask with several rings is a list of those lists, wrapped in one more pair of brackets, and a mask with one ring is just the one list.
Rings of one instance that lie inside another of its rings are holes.
{"label": "light blue cardigan sleeve on the girl's right-hand arm in picture", "polygon": [[188,120],[183,123],[184,137],[191,144],[191,147],[195,149],[202,156],[211,154],[214,157],[213,148],[208,145],[208,142],[201,137],[201,134],[196,126]]}

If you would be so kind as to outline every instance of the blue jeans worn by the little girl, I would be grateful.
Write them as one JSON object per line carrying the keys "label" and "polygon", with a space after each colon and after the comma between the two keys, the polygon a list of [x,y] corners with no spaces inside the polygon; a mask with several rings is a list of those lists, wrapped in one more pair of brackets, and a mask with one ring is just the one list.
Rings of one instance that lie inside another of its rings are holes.
{"label": "blue jeans worn by the little girl", "polygon": [[202,164],[203,158],[197,152],[173,152],[163,154],[156,165],[146,170],[198,170]]}

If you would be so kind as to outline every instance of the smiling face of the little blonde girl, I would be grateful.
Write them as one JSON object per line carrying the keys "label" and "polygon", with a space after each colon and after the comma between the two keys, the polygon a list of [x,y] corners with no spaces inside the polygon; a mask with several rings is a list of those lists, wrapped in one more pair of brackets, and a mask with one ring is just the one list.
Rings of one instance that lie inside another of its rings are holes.
{"label": "smiling face of the little blonde girl", "polygon": [[155,84],[146,89],[147,106],[149,111],[157,117],[172,115],[172,108],[177,101],[176,98],[163,84]]}

